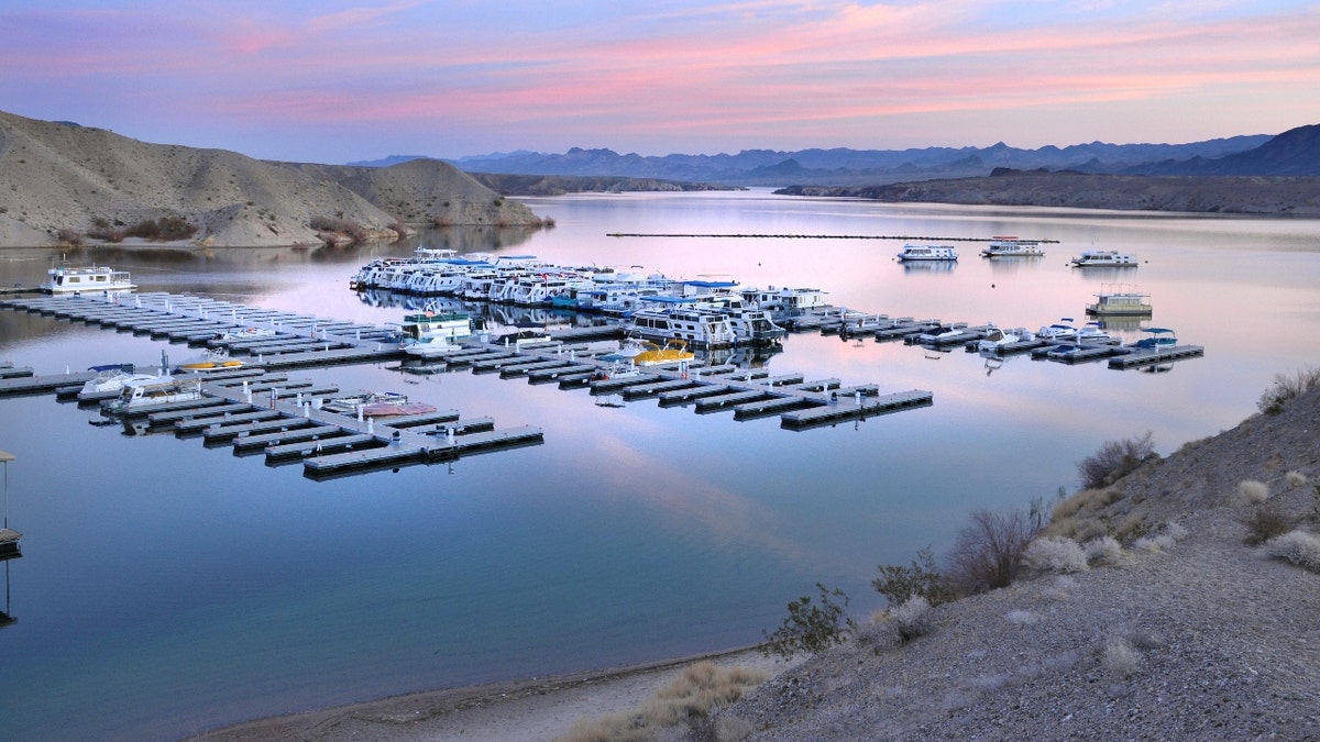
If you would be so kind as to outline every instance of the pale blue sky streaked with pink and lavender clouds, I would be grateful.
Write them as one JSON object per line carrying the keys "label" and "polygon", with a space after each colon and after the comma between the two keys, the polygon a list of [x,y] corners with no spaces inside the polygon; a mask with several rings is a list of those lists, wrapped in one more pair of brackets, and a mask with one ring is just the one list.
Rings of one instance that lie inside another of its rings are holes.
{"label": "pale blue sky streaked with pink and lavender clouds", "polygon": [[309,162],[1320,123],[1320,1],[4,0],[0,110]]}

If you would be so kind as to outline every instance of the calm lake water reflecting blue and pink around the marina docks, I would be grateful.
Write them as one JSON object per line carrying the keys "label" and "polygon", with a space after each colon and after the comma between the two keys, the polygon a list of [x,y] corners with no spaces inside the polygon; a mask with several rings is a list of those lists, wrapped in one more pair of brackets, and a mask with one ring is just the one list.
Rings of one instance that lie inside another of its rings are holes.
{"label": "calm lake water reflecting blue and pink around the marina docks", "polygon": [[[813,285],[838,305],[1035,329],[1106,284],[1151,294],[1155,326],[1204,345],[1167,374],[792,335],[776,372],[935,392],[861,424],[593,404],[585,391],[392,364],[300,372],[403,391],[545,444],[453,466],[313,482],[206,449],[131,437],[53,396],[0,400],[8,516],[0,737],[177,738],[256,716],[425,688],[619,665],[754,643],[822,581],[882,601],[875,565],[941,551],[973,508],[1076,487],[1076,462],[1146,430],[1162,453],[1230,428],[1280,371],[1320,362],[1320,222],[882,206],[766,193],[531,199],[557,227],[449,235],[463,250]],[[895,263],[896,240],[610,238],[756,232],[1055,239],[1036,260],[957,243],[952,271]],[[143,290],[385,323],[347,289],[363,251],[121,251]],[[1071,269],[1084,248],[1138,253]],[[0,281],[40,281],[50,251],[0,251]],[[1139,333],[1131,330],[1129,337]],[[148,363],[182,346],[0,310],[0,359],[41,372]]]}

